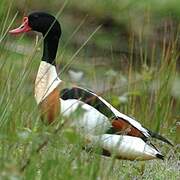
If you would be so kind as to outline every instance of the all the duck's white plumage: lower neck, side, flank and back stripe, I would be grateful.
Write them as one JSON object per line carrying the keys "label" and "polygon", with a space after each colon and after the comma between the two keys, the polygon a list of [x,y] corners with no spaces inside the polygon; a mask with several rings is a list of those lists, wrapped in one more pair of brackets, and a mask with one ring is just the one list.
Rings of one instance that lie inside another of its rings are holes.
{"label": "all the duck's white plumage: lower neck, side, flank and back stripe", "polygon": [[[39,104],[45,99],[61,82],[57,76],[55,66],[42,61],[35,82],[35,98],[37,103]],[[147,130],[140,123],[117,111],[103,98],[99,98],[115,115],[123,117],[140,129],[146,136],[149,136]],[[100,148],[108,151],[110,154],[115,153],[118,158],[130,160],[149,160],[156,158],[156,155],[160,154],[141,138],[128,135],[106,134],[106,131],[111,127],[111,123],[105,115],[94,107],[76,99],[60,99],[60,103],[61,114],[63,116],[75,113],[78,108],[83,109],[82,115],[78,119],[72,120],[72,126],[76,127],[81,135],[83,135],[88,146],[99,145]]]}

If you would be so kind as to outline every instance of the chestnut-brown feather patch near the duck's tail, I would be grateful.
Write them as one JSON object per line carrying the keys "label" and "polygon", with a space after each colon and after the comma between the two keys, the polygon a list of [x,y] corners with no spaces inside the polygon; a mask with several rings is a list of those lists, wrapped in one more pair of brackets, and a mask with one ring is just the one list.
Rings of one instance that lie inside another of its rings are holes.
{"label": "chestnut-brown feather patch near the duck's tail", "polygon": [[127,134],[135,137],[144,137],[142,132],[133,127],[129,122],[118,118],[112,121],[112,126],[119,131],[120,134]]}

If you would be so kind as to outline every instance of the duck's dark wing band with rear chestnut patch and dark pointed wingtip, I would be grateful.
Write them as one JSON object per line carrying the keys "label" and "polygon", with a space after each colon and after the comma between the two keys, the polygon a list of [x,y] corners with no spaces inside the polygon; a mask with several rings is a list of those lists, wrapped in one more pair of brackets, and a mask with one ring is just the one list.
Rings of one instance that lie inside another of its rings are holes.
{"label": "duck's dark wing band with rear chestnut patch and dark pointed wingtip", "polygon": [[[113,110],[108,107],[108,103],[106,103],[105,100],[102,100],[102,98],[100,98],[98,95],[87,89],[80,87],[72,87],[70,89],[65,88],[61,90],[60,96],[63,100],[78,99],[94,107],[96,110],[98,110],[100,113],[102,113],[108,119],[111,120],[112,129],[116,133],[118,132],[119,134],[127,134],[130,136],[140,137],[144,141],[147,141],[148,137],[153,137],[172,145],[171,142],[169,142],[166,138],[162,137],[161,135],[151,132],[148,129],[142,127],[142,129],[145,130],[145,132],[143,132],[141,129],[138,129],[138,127],[134,126],[130,121],[122,117],[118,117],[113,112]],[[133,122],[135,120],[131,118],[131,121]]]}

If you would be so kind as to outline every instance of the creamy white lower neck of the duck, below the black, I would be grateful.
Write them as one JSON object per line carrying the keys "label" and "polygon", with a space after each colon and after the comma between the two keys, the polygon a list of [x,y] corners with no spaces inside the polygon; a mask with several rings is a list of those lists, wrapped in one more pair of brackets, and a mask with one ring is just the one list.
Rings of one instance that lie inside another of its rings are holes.
{"label": "creamy white lower neck of the duck, below the black", "polygon": [[35,81],[35,99],[37,104],[42,102],[59,84],[56,67],[41,61]]}

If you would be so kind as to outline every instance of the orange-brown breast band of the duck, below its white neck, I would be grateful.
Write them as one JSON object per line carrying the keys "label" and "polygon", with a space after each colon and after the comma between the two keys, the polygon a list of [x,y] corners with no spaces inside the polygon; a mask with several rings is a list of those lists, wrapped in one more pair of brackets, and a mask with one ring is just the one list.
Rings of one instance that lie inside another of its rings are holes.
{"label": "orange-brown breast band of the duck, below its white neck", "polygon": [[52,123],[60,113],[59,89],[54,89],[40,104],[41,118]]}

